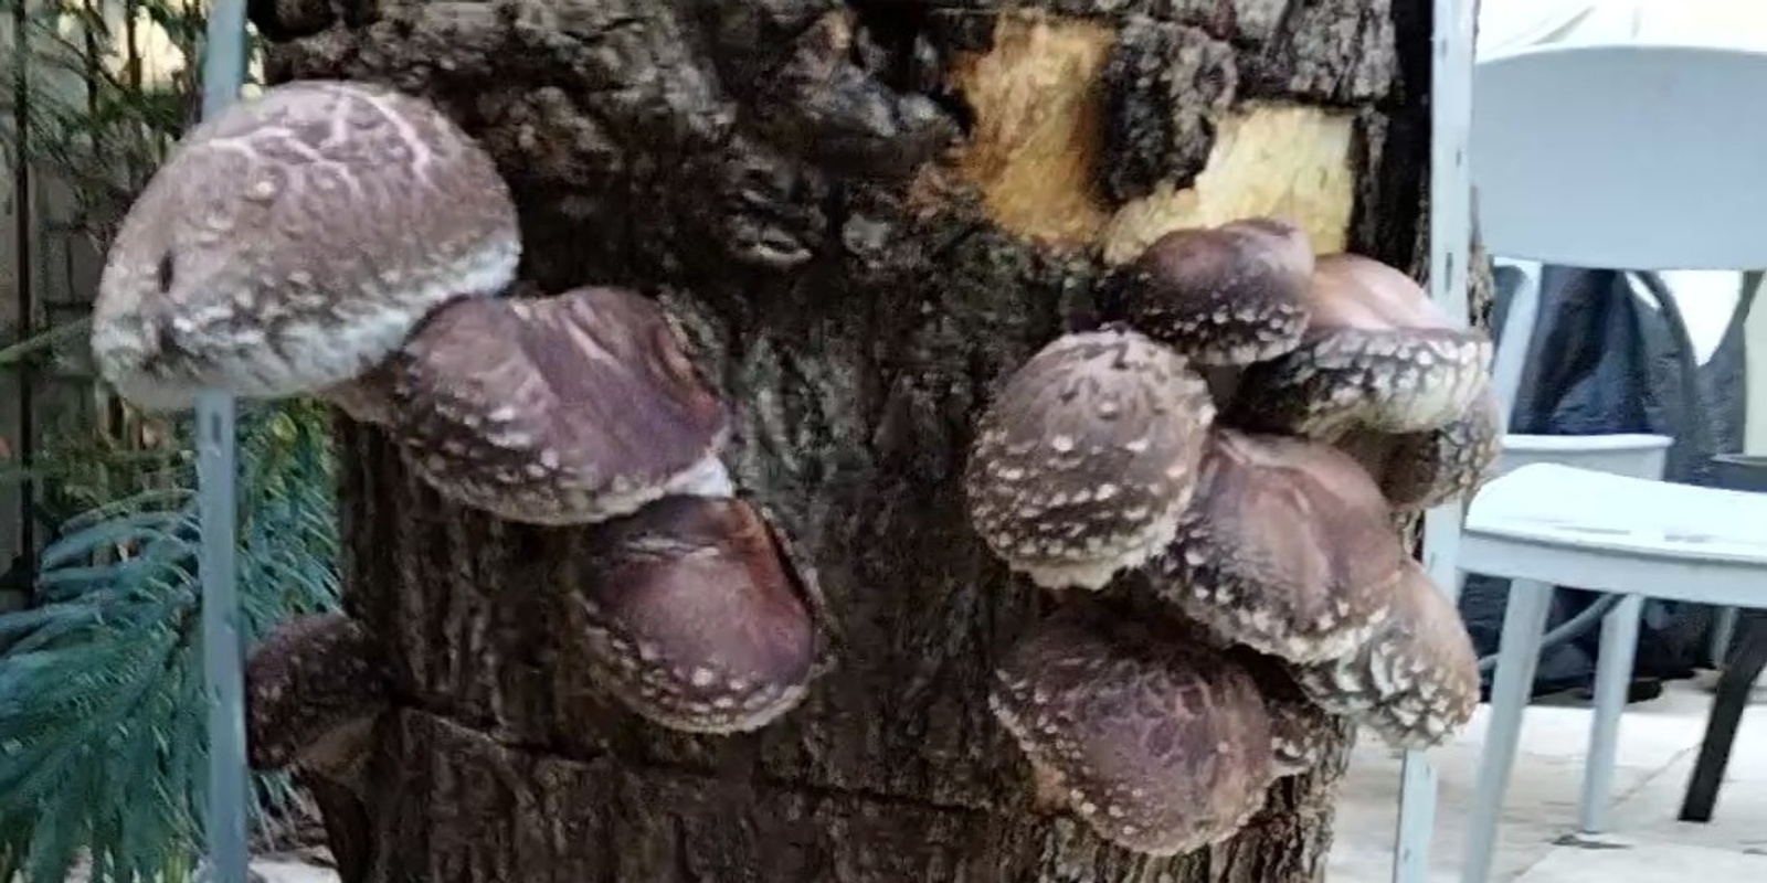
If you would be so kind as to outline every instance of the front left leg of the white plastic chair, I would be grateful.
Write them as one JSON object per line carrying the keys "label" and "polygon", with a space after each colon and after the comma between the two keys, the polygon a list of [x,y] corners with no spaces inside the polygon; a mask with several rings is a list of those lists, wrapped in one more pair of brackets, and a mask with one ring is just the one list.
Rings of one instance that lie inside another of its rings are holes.
{"label": "front left leg of the white plastic chair", "polygon": [[1479,761],[1479,786],[1468,819],[1461,883],[1486,883],[1491,876],[1497,823],[1504,809],[1504,791],[1509,789],[1509,768],[1514,766],[1516,747],[1521,743],[1521,712],[1534,694],[1534,671],[1539,668],[1551,595],[1553,586],[1546,583],[1532,579],[1509,583],[1509,606],[1504,611],[1497,671],[1491,675],[1491,710],[1484,733],[1484,756]]}

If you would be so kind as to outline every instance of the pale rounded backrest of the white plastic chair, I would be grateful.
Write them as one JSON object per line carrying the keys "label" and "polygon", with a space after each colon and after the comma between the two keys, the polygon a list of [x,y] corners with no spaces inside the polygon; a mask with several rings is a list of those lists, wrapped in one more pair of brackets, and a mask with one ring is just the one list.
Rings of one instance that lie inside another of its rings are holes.
{"label": "pale rounded backrest of the white plastic chair", "polygon": [[1493,254],[1767,267],[1767,53],[1601,44],[1486,58],[1470,152]]}

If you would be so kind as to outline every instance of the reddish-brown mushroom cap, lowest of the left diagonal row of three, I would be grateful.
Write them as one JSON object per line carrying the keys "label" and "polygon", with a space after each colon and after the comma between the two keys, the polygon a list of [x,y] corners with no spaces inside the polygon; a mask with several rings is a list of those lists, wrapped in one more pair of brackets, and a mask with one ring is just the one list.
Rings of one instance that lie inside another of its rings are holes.
{"label": "reddish-brown mushroom cap, lowest of the left diagonal row of three", "polygon": [[571,630],[638,715],[744,733],[795,708],[818,671],[806,579],[749,503],[668,496],[590,533]]}

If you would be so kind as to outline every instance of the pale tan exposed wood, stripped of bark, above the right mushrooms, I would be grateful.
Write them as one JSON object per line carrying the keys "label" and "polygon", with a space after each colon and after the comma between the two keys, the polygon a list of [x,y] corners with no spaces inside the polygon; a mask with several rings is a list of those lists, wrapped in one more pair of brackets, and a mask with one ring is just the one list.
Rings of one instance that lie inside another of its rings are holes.
{"label": "pale tan exposed wood, stripped of bark, above the right mushrooms", "polygon": [[[1126,263],[1159,237],[1240,217],[1283,215],[1322,253],[1348,244],[1355,208],[1355,117],[1239,102],[1198,109],[1214,141],[1193,180],[1161,180],[1113,205],[1097,185],[1110,120],[1106,74],[1119,34],[1096,19],[1007,12],[984,53],[951,81],[974,111],[958,171],[1000,228],[1044,245],[1103,247]],[[1225,102],[1223,102],[1225,104]]]}

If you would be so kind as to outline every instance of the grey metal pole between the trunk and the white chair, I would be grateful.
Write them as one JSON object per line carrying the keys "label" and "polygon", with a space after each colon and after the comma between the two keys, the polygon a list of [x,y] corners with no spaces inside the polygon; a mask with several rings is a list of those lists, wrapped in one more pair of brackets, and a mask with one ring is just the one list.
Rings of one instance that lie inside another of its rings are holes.
{"label": "grey metal pole between the trunk and the white chair", "polygon": [[[1433,0],[1430,72],[1430,297],[1467,321],[1467,274],[1472,272],[1472,64],[1477,0]],[[1460,593],[1460,500],[1424,514],[1424,569],[1449,595]],[[1407,751],[1399,774],[1399,823],[1394,832],[1392,881],[1430,879],[1435,834],[1437,770],[1421,751]]]}

